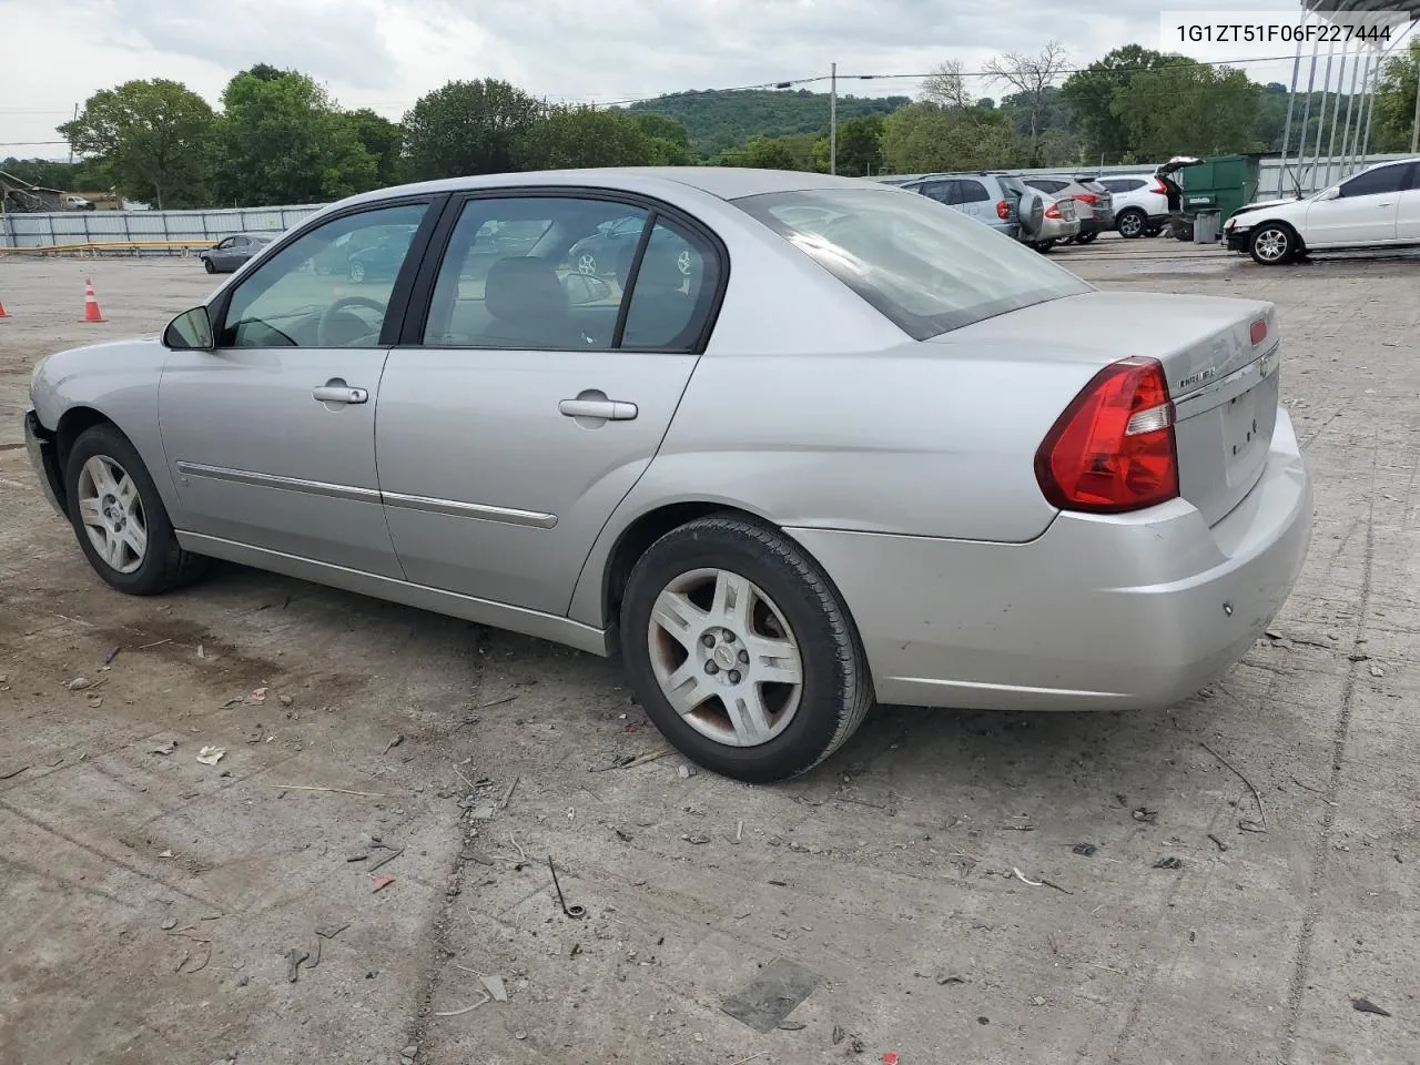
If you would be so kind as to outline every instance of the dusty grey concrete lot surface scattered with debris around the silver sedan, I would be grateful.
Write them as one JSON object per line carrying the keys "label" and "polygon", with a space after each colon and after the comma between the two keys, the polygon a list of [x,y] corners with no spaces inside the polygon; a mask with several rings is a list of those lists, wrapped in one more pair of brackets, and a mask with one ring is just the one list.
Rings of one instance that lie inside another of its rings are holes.
{"label": "dusty grey concrete lot surface scattered with debris around the silver sedan", "polygon": [[[609,768],[663,743],[589,656],[236,567],[108,591],[28,373],[212,278],[0,261],[0,1061],[1420,1059],[1420,261],[1058,254],[1278,304],[1318,491],[1277,638],[1167,713],[880,709],[772,788]],[[812,987],[755,1031],[721,1004],[778,958]]]}

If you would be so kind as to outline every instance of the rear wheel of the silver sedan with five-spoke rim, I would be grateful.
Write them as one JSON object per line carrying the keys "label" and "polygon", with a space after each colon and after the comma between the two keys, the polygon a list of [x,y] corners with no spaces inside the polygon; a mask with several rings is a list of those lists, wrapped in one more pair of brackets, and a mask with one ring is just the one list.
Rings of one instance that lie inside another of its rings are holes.
{"label": "rear wheel of the silver sedan with five-spoke rim", "polygon": [[[748,604],[748,622],[719,615],[740,630],[734,639],[714,623],[716,594],[724,602],[727,586]],[[687,758],[724,777],[770,784],[808,772],[873,704],[862,643],[828,577],[781,532],[734,514],[699,518],[652,544],[626,582],[619,621],[628,679],[650,720]],[[754,640],[794,653],[751,657]],[[788,665],[775,669],[771,659]],[[798,683],[755,682],[755,670]],[[683,693],[683,710],[667,687]],[[741,713],[736,726],[726,693],[763,713]]]}

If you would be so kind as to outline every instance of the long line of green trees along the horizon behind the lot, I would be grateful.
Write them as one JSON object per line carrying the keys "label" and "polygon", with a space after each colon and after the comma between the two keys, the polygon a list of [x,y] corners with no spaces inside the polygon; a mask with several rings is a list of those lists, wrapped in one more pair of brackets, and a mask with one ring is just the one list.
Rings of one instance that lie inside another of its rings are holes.
{"label": "long line of green trees along the horizon behind the lot", "polygon": [[[1406,151],[1420,41],[1389,61],[1370,148]],[[1089,166],[1282,146],[1288,92],[1244,72],[1139,45],[1069,71],[1055,43],[1007,53],[984,71],[1007,89],[977,97],[941,64],[907,97],[839,101],[838,172]],[[1353,101],[1315,92],[1291,143],[1323,138]],[[1358,112],[1359,114],[1359,112]],[[1305,115],[1305,124],[1304,124]],[[180,82],[128,81],[94,94],[61,135],[85,159],[6,160],[37,185],[116,187],[155,207],[315,203],[402,180],[581,166],[714,163],[829,169],[828,99],[812,92],[687,92],[630,108],[548,104],[504,81],[452,81],[392,122],[346,109],[311,77],[258,64],[233,77],[220,109]]]}

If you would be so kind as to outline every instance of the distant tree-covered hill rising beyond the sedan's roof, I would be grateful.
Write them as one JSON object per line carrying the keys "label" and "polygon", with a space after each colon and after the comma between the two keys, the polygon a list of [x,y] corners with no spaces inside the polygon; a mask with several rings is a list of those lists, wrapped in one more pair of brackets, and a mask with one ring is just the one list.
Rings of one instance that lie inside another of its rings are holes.
{"label": "distant tree-covered hill rising beyond the sedan's roof", "polygon": [[[838,121],[861,115],[886,115],[909,97],[839,97]],[[629,111],[649,111],[679,121],[690,133],[690,146],[703,156],[743,146],[751,136],[787,136],[828,129],[826,92],[743,89],[740,92],[673,92],[632,104]]]}

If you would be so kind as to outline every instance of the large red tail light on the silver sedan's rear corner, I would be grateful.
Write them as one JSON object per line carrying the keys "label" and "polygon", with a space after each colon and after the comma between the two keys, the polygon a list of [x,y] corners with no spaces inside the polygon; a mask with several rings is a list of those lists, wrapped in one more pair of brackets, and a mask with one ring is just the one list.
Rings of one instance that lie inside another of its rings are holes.
{"label": "large red tail light on the silver sedan's rear corner", "polygon": [[1157,359],[1115,362],[1095,375],[1035,453],[1051,506],[1093,514],[1143,510],[1179,494],[1173,402]]}

